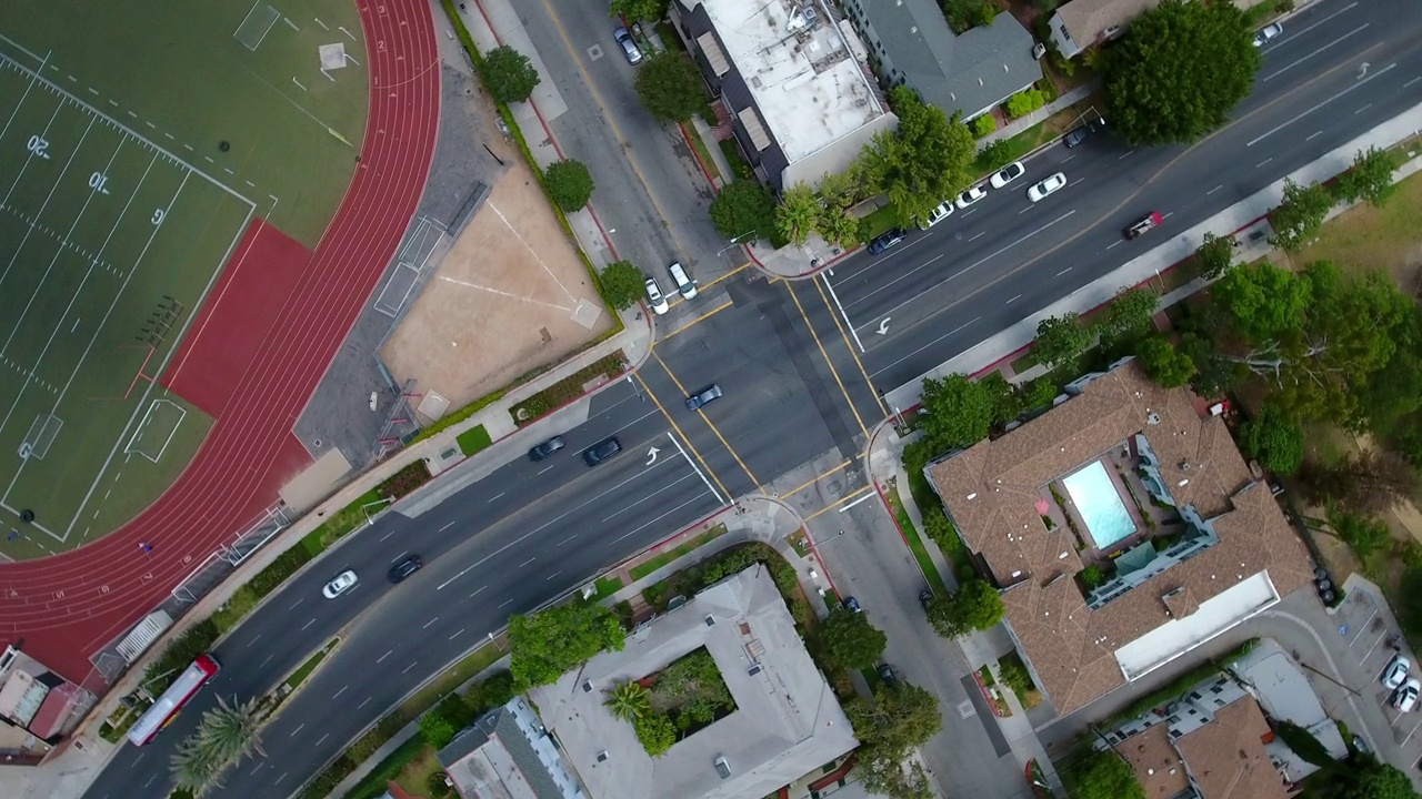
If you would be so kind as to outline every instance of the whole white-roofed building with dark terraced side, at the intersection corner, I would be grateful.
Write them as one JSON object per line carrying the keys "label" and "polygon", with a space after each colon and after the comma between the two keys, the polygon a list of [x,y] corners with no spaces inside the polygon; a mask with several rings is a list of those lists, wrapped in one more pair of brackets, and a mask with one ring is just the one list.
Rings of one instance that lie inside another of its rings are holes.
{"label": "whole white-roofed building with dark terraced side, at the intersection corner", "polygon": [[671,18],[775,191],[819,186],[899,127],[859,37],[822,0],[675,0]]}

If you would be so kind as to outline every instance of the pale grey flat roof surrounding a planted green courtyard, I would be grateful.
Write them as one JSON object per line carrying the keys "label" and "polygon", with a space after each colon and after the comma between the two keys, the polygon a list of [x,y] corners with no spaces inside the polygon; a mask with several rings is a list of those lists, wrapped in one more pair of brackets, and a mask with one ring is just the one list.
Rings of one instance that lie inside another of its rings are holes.
{"label": "pale grey flat roof surrounding a planted green courtyard", "polygon": [[[651,758],[631,724],[606,708],[607,691],[701,647],[737,709]],[[857,745],[775,583],[758,566],[641,627],[623,651],[603,653],[529,698],[593,799],[766,796]],[[725,758],[725,776],[718,758]]]}

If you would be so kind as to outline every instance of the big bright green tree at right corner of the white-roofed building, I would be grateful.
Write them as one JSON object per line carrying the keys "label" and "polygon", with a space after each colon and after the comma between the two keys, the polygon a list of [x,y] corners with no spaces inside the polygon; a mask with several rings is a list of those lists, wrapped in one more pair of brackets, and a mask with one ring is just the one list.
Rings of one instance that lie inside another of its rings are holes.
{"label": "big bright green tree at right corner of the white-roofed building", "polygon": [[883,192],[902,225],[929,216],[940,202],[967,186],[977,145],[957,118],[924,105],[909,87],[889,91],[899,128],[875,135],[867,148],[869,173],[882,178]]}

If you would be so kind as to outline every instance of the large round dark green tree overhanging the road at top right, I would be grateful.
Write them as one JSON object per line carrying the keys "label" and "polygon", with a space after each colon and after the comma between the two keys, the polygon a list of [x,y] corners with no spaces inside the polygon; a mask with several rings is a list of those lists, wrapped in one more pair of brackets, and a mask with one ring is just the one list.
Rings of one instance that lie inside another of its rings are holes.
{"label": "large round dark green tree overhanging the road at top right", "polygon": [[1261,57],[1233,3],[1167,0],[1106,51],[1106,104],[1132,145],[1189,144],[1219,128],[1254,87]]}

